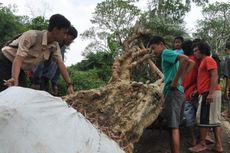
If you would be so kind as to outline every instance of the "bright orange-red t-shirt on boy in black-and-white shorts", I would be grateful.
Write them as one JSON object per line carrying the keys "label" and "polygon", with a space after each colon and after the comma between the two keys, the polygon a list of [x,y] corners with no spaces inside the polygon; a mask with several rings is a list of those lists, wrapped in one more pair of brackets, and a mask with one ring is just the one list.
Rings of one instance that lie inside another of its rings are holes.
{"label": "bright orange-red t-shirt on boy in black-and-white shorts", "polygon": [[[217,70],[216,61],[212,57],[206,56],[201,61],[198,69],[197,89],[199,94],[209,91],[211,82],[210,70],[214,69]],[[216,85],[215,90],[220,90],[219,84]]]}

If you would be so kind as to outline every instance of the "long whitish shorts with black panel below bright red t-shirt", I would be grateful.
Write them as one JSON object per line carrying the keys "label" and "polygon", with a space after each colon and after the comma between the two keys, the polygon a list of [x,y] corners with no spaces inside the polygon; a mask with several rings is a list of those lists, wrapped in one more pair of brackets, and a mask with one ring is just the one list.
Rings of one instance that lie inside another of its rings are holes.
{"label": "long whitish shorts with black panel below bright red t-shirt", "polygon": [[208,92],[199,96],[199,106],[196,114],[197,124],[201,127],[218,127],[221,118],[221,91],[214,92],[212,103],[207,103]]}

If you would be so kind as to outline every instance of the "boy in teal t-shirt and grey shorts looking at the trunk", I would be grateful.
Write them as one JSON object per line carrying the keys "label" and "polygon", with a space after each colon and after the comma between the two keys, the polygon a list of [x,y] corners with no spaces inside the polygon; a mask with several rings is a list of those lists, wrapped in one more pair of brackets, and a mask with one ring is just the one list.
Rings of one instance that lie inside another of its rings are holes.
{"label": "boy in teal t-shirt and grey shorts looking at the trunk", "polygon": [[170,128],[171,152],[180,152],[179,124],[182,105],[185,101],[184,89],[181,79],[192,68],[194,62],[187,56],[179,54],[165,47],[162,37],[154,36],[150,40],[150,48],[162,58],[162,70],[164,74],[165,115]]}

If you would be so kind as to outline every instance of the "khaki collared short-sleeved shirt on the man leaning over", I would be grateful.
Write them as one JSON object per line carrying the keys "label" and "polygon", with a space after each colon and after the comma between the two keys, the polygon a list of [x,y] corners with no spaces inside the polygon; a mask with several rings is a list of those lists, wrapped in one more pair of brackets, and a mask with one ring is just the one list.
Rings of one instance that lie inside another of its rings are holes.
{"label": "khaki collared short-sleeved shirt on the man leaning over", "polygon": [[47,31],[26,31],[18,39],[10,43],[9,46],[3,47],[2,52],[11,62],[13,62],[16,55],[22,57],[21,68],[23,70],[32,70],[39,63],[48,60],[50,55],[54,60],[62,60],[58,43],[52,42],[48,44]]}

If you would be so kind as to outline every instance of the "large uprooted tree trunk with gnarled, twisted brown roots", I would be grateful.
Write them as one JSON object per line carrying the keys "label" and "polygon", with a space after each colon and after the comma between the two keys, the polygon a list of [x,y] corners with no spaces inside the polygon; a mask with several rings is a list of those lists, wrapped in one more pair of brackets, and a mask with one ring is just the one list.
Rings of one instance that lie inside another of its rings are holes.
{"label": "large uprooted tree trunk with gnarled, twisted brown roots", "polygon": [[[154,122],[163,105],[163,75],[152,61],[151,51],[141,42],[146,33],[138,30],[124,41],[124,54],[115,60],[107,85],[64,97],[127,153],[133,152],[134,143]],[[142,62],[148,62],[154,83],[131,80],[131,69]]]}

